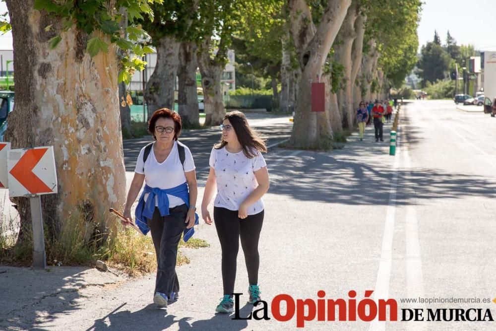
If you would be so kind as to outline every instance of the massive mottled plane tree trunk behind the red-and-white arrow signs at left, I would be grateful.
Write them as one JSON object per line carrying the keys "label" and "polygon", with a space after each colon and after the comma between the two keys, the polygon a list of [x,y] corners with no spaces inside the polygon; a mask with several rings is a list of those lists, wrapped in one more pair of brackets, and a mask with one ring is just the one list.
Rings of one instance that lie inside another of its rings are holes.
{"label": "massive mottled plane tree trunk behind the red-and-white arrow signs at left", "polygon": [[[145,8],[148,0],[116,2],[143,5],[136,15],[151,13]],[[15,106],[5,139],[12,148],[54,146],[58,194],[41,198],[46,234],[58,238],[62,232],[76,231],[89,239],[108,233],[107,227],[115,224],[108,222],[109,207],[120,208],[125,198],[118,83],[129,77],[132,66],[142,65],[118,55],[118,45],[133,46],[120,37],[117,21],[122,16],[103,0],[93,7],[80,1],[6,4],[13,36]],[[140,27],[130,24],[131,28],[137,39]],[[29,239],[29,201],[12,200],[20,215],[20,245]]]}

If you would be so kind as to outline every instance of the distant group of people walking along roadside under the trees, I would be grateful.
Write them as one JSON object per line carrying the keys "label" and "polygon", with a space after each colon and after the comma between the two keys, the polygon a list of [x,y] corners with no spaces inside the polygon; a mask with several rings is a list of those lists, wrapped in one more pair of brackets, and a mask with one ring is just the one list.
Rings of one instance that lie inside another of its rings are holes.
{"label": "distant group of people walking along roadside under the trees", "polygon": [[365,127],[370,125],[371,122],[373,122],[375,129],[375,141],[384,141],[382,138],[382,126],[384,123],[391,122],[393,107],[396,108],[397,105],[397,99],[394,99],[394,101],[381,100],[380,102],[375,99],[375,102],[370,101],[369,103],[361,101],[356,113],[360,141],[364,140]]}

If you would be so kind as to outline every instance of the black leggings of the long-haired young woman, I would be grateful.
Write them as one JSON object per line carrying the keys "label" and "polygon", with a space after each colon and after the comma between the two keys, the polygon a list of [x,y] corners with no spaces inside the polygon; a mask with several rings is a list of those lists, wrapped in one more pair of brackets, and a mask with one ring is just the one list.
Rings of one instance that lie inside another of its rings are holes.
{"label": "black leggings of the long-haired young woman", "polygon": [[236,280],[236,260],[241,247],[245,254],[248,270],[248,282],[258,284],[258,239],[263,223],[263,210],[247,218],[238,217],[237,210],[214,207],[214,223],[222,248],[222,282],[224,294],[234,293]]}

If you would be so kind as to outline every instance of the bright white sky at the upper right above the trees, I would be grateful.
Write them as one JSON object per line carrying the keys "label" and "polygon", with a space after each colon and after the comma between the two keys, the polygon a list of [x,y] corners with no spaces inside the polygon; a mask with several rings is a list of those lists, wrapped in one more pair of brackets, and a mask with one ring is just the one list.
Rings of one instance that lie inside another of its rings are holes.
{"label": "bright white sky at the upper right above the trees", "polygon": [[[434,40],[434,30],[446,42],[446,33],[458,45],[496,51],[496,0],[423,0],[418,28],[420,47]],[[419,47],[419,49],[420,49]]]}

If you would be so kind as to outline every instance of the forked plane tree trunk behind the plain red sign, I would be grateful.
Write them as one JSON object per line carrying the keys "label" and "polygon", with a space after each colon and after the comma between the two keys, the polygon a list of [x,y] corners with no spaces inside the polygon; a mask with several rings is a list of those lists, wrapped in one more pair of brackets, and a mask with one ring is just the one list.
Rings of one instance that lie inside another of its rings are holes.
{"label": "forked plane tree trunk behind the plain red sign", "polygon": [[315,26],[308,3],[305,0],[289,0],[291,36],[301,71],[295,123],[290,138],[290,144],[294,147],[320,148],[323,140],[332,137],[329,114],[310,111],[310,86],[322,75],[327,55],[351,0],[328,0],[325,3],[320,21]]}

